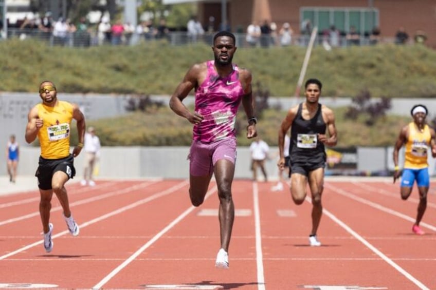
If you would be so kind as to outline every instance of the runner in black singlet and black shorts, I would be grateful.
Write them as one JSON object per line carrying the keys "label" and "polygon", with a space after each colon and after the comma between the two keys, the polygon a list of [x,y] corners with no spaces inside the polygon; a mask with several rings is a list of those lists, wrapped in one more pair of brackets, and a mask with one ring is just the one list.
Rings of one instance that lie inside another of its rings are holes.
{"label": "runner in black singlet and black shorts", "polygon": [[280,160],[277,165],[284,168],[284,136],[290,128],[290,192],[295,204],[304,202],[307,183],[311,190],[311,246],[321,245],[316,234],[322,215],[321,195],[326,160],[324,145],[335,146],[337,143],[335,115],[331,109],[318,102],[321,88],[319,80],[307,80],[304,92],[306,101],[289,109],[279,129]]}

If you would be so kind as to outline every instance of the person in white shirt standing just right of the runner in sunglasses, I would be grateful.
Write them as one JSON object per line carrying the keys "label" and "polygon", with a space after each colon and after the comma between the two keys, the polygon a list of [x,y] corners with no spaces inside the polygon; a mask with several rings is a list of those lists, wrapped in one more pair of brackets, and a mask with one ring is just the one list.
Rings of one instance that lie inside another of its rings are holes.
{"label": "person in white shirt standing just right of the runner in sunglasses", "polygon": [[89,127],[88,132],[85,133],[83,150],[85,151],[85,166],[81,184],[94,186],[94,167],[100,157],[100,139],[96,136],[94,127]]}

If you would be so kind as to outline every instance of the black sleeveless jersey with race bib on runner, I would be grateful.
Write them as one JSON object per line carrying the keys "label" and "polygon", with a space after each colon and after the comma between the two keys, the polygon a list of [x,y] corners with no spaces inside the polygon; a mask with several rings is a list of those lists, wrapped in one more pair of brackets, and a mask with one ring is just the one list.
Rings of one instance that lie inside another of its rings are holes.
{"label": "black sleeveless jersey with race bib on runner", "polygon": [[320,153],[325,156],[325,148],[322,142],[318,142],[317,134],[325,134],[326,125],[322,119],[321,104],[318,104],[318,110],[310,120],[303,119],[301,115],[303,104],[298,106],[297,115],[295,116],[290,128],[290,146],[289,156],[306,156],[313,157],[314,154]]}

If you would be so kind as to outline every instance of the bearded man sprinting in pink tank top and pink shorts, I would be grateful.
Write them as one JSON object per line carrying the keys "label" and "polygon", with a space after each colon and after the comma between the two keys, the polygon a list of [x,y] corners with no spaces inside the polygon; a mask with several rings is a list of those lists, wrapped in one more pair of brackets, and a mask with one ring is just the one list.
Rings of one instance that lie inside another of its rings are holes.
{"label": "bearded man sprinting in pink tank top and pink shorts", "polygon": [[[251,91],[251,73],[232,64],[236,51],[232,33],[214,35],[213,61],[194,64],[170,99],[171,109],[194,124],[189,154],[189,197],[194,206],[203,203],[212,175],[220,198],[221,248],[215,266],[228,268],[228,248],[234,220],[231,185],[236,161],[234,124],[242,101],[247,115],[247,138],[257,136]],[[195,110],[182,101],[195,89]]]}

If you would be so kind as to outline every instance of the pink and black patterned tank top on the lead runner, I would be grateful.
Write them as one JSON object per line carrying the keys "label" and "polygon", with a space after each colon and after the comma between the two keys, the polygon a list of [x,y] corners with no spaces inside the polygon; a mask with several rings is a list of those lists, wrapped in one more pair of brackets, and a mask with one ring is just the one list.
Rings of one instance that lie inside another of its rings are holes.
{"label": "pink and black patterned tank top on the lead runner", "polygon": [[203,143],[235,136],[236,114],[244,95],[238,66],[221,78],[213,65],[214,61],[207,62],[206,79],[195,89],[195,111],[204,119],[194,125],[193,139]]}

